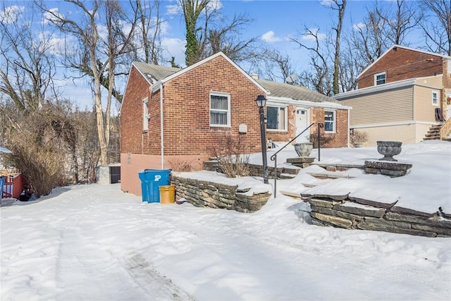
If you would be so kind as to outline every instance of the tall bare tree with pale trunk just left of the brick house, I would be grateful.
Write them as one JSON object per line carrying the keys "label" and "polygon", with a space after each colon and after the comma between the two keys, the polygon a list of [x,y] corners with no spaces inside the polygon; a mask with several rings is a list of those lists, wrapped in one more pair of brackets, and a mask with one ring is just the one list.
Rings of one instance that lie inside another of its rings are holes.
{"label": "tall bare tree with pale trunk just left of the brick house", "polygon": [[[102,166],[108,164],[109,130],[111,116],[111,96],[114,94],[114,70],[118,58],[132,51],[130,42],[137,22],[137,10],[130,18],[131,29],[123,32],[122,20],[127,15],[118,1],[94,0],[85,2],[81,0],[66,0],[74,8],[82,11],[81,20],[74,20],[62,16],[60,13],[39,7],[51,16],[48,20],[66,35],[78,39],[78,50],[81,56],[66,56],[69,66],[79,70],[82,75],[89,75],[94,82],[94,109],[96,112],[97,133],[100,147],[100,162]],[[132,4],[132,2],[130,2]],[[104,10],[104,11],[102,11]],[[106,22],[106,37],[99,34],[99,16],[104,16]],[[102,61],[103,60],[103,61]],[[104,73],[106,72],[106,76]],[[101,86],[109,91],[106,100],[106,110],[102,109]],[[119,101],[121,97],[116,95]]]}

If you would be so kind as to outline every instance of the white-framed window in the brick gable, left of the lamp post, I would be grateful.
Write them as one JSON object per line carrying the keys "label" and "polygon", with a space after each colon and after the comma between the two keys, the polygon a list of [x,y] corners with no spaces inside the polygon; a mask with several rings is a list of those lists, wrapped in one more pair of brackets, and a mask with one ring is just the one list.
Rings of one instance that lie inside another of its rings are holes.
{"label": "white-framed window in the brick gable, left of the lamp post", "polygon": [[210,126],[230,127],[230,94],[210,93]]}

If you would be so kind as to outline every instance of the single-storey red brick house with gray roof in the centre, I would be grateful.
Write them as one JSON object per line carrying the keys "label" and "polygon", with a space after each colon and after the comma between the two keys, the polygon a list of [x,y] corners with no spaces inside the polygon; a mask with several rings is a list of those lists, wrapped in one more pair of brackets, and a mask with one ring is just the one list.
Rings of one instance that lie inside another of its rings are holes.
{"label": "single-storey red brick house with gray roof in the centre", "polygon": [[261,152],[259,94],[268,98],[267,138],[288,142],[321,122],[323,135],[335,137],[329,147],[347,146],[349,108],[304,87],[252,78],[221,52],[183,69],[134,62],[121,105],[122,190],[141,195],[144,168],[202,169],[224,133],[241,137],[246,152]]}

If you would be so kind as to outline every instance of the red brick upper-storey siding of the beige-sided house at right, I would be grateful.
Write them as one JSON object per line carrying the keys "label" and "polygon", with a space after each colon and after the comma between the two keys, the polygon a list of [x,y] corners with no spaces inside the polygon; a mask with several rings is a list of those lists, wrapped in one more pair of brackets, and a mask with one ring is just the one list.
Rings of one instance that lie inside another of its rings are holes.
{"label": "red brick upper-storey siding of the beige-sided house at right", "polygon": [[[433,59],[433,61],[429,61],[429,59]],[[396,50],[391,49],[360,75],[359,89],[374,86],[374,75],[383,72],[385,72],[385,83],[443,74],[443,59],[441,56],[400,47],[397,47]]]}

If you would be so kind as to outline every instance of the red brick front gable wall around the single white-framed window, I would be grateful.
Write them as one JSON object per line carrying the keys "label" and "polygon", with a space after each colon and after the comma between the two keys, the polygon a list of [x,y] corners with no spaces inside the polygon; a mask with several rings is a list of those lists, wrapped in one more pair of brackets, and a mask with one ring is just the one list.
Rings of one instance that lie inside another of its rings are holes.
{"label": "red brick front gable wall around the single white-framed window", "polygon": [[[231,127],[210,127],[210,92],[230,94]],[[217,135],[242,137],[247,152],[260,152],[259,109],[261,90],[222,56],[166,82],[164,87],[165,155],[211,153]],[[247,133],[239,134],[240,124]]]}

